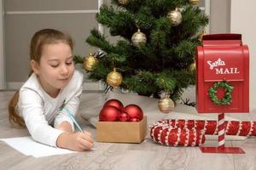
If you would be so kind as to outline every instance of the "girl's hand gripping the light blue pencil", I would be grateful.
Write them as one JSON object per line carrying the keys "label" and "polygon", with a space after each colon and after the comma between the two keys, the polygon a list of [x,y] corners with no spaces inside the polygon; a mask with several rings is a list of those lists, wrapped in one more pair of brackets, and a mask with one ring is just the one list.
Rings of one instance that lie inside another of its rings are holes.
{"label": "girl's hand gripping the light blue pencil", "polygon": [[84,151],[90,150],[93,146],[93,139],[90,133],[61,133],[56,145],[68,150]]}

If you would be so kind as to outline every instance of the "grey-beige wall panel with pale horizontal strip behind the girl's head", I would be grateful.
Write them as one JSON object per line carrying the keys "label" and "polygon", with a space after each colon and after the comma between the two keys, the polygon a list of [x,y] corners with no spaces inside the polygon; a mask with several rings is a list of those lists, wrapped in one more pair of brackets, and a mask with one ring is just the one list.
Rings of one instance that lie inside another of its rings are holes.
{"label": "grey-beige wall panel with pale horizontal strip behind the girl's head", "polygon": [[[40,3],[32,3],[34,2],[32,0],[0,1],[4,2],[4,59],[7,89],[19,89],[26,81],[29,71],[29,42],[32,34],[38,30],[50,27],[68,32],[75,43],[74,54],[81,56],[89,54],[89,45],[84,39],[92,28],[98,26],[95,14],[98,3],[102,3],[102,0],[44,0]],[[20,29],[20,26],[25,29]],[[101,87],[99,82],[88,80],[86,74],[84,74],[84,83],[85,90],[99,90],[98,87]]]}

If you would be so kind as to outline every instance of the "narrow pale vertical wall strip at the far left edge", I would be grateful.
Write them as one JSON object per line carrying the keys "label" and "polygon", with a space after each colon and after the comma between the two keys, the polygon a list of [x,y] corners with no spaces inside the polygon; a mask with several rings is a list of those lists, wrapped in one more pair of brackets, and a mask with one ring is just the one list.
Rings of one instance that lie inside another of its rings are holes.
{"label": "narrow pale vertical wall strip at the far left edge", "polygon": [[0,89],[5,88],[5,63],[3,54],[3,1],[0,0]]}

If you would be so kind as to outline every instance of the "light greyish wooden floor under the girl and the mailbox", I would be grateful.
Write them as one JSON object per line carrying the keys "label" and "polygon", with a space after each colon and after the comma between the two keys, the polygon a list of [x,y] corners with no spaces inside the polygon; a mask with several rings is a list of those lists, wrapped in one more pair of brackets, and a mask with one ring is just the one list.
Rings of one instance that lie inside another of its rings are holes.
{"label": "light greyish wooden floor under the girl and the mailbox", "polygon": [[[14,92],[0,92],[0,138],[27,136],[26,129],[10,127],[7,103]],[[86,100],[97,100],[102,95],[84,93],[83,108]],[[88,105],[90,107],[90,105]],[[93,133],[96,129],[79,118],[85,130]],[[207,145],[216,145],[216,141],[207,141]],[[228,146],[239,146],[246,151],[245,155],[202,154],[198,147],[166,147],[154,144],[148,137],[142,144],[95,143],[96,150],[73,153],[61,156],[34,158],[24,156],[9,145],[0,141],[0,169],[37,170],[37,169],[195,169],[195,170],[256,170],[256,138],[244,141],[226,142]]]}

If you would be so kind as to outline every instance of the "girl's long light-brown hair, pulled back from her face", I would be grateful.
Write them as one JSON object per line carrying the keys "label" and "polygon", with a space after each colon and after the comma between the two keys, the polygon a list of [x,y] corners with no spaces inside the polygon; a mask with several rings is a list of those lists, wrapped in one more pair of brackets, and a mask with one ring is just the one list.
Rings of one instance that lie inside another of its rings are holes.
{"label": "girl's long light-brown hair, pulled back from her face", "polygon": [[[38,62],[38,64],[40,64],[40,58],[44,45],[55,44],[59,42],[67,43],[73,51],[73,41],[67,34],[64,34],[63,32],[57,31],[55,29],[44,29],[36,32],[30,43],[30,60],[35,60]],[[33,71],[31,69],[29,77],[32,75],[32,73]],[[25,127],[23,118],[20,117],[16,111],[16,105],[18,101],[19,91],[16,92],[13,98],[9,100],[9,122],[13,125],[15,123],[20,127]]]}

